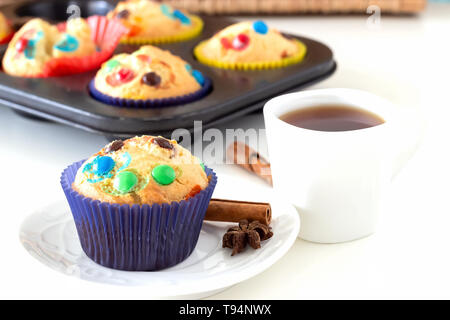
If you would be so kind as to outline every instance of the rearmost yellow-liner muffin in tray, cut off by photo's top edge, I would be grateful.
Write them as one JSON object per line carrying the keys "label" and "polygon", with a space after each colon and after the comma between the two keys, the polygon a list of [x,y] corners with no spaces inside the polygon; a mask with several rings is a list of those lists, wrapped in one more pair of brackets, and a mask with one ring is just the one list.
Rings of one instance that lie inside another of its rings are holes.
{"label": "rearmost yellow-liner muffin in tray, cut off by photo's top edge", "polygon": [[149,0],[119,2],[107,17],[120,20],[130,30],[122,39],[126,43],[184,41],[197,36],[203,29],[199,17]]}

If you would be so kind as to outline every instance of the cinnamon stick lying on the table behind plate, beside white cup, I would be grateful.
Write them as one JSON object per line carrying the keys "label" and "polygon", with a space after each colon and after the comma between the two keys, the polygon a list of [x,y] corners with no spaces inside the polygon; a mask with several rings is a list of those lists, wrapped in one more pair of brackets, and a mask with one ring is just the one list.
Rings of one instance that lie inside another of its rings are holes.
{"label": "cinnamon stick lying on the table behind plate, beside white cup", "polygon": [[272,184],[270,163],[247,144],[235,141],[227,148],[227,159]]}

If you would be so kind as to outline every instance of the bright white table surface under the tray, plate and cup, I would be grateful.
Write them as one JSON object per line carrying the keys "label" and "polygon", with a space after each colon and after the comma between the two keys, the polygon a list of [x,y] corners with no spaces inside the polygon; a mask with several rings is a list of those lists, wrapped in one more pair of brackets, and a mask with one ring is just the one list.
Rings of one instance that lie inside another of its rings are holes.
{"label": "bright white table surface under the tray, plate and cup", "polygon": [[[393,182],[375,234],[334,245],[297,240],[271,268],[210,298],[450,298],[450,5],[430,5],[416,17],[382,15],[380,29],[368,28],[366,16],[265,20],[333,48],[337,72],[312,88],[371,91],[399,106],[421,108],[428,127],[422,146]],[[221,128],[263,126],[256,114]],[[63,198],[62,168],[96,152],[104,138],[6,108],[0,108],[0,137],[0,298],[146,299],[147,287],[58,273],[19,241],[28,212]],[[271,192],[232,165],[215,169]],[[222,193],[234,197],[233,190]],[[24,210],[17,211],[16,203]]]}

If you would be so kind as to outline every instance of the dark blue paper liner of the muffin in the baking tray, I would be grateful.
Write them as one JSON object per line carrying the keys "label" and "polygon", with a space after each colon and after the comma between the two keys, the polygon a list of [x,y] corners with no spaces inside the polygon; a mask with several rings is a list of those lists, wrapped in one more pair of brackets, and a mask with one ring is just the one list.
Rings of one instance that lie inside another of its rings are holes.
{"label": "dark blue paper liner of the muffin in the baking tray", "polygon": [[95,79],[92,79],[89,82],[89,92],[91,93],[91,96],[94,99],[97,99],[103,103],[113,106],[124,108],[136,108],[136,109],[161,108],[190,103],[206,96],[211,91],[211,88],[212,88],[211,79],[204,77],[204,83],[200,88],[200,90],[197,90],[193,93],[189,93],[183,96],[161,98],[161,99],[124,99],[112,97],[98,91],[95,88]]}

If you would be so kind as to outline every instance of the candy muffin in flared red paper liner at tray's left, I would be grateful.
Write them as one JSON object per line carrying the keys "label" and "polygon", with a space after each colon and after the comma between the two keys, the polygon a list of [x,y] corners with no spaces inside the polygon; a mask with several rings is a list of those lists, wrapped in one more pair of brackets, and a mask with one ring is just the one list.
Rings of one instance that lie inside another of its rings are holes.
{"label": "candy muffin in flared red paper liner at tray's left", "polygon": [[[96,33],[98,25],[106,31],[104,35]],[[59,25],[35,18],[14,35],[3,57],[3,69],[20,77],[89,71],[111,56],[126,31],[105,17],[75,18]]]}

